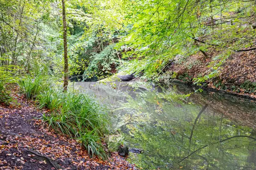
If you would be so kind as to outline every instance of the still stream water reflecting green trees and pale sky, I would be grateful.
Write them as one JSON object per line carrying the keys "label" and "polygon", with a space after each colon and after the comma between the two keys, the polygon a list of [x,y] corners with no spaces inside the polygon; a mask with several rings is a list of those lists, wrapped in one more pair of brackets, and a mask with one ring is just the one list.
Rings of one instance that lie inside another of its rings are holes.
{"label": "still stream water reflecting green trees and pale sky", "polygon": [[[256,169],[256,102],[176,84],[77,82],[111,107],[113,134],[144,169]],[[200,115],[201,113],[201,115]]]}

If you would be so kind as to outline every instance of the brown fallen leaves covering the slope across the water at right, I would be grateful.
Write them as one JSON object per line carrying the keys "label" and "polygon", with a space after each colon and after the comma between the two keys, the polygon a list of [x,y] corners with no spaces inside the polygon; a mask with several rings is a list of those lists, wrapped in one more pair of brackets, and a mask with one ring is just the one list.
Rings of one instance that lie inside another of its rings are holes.
{"label": "brown fallen leaves covering the slope across the water at right", "polygon": [[[212,70],[215,63],[218,63],[221,58],[214,60],[215,57],[224,53],[214,47],[209,48],[207,51],[208,57],[205,57],[200,51],[197,54],[186,57],[181,63],[175,63],[169,70],[175,71],[178,75],[187,74],[189,78],[186,79],[192,82],[195,77],[203,77],[208,75]],[[176,59],[180,60],[180,59]],[[217,80],[221,80],[222,85],[227,86],[226,91],[240,94],[244,96],[250,96],[256,98],[255,93],[248,94],[245,89],[240,88],[240,85],[248,80],[250,82],[256,82],[256,50],[235,52],[226,59],[223,65],[219,69],[219,75]],[[184,80],[184,79],[183,79]],[[213,79],[207,81],[208,88],[215,88]],[[236,86],[239,92],[233,91],[232,86]],[[218,90],[221,86],[218,86]]]}

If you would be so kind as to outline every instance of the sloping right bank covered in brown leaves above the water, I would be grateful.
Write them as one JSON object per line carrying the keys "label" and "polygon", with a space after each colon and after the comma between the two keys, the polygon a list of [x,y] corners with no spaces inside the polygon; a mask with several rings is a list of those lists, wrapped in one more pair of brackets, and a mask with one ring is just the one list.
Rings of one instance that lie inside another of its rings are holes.
{"label": "sloping right bank covered in brown leaves above the water", "polygon": [[[176,57],[172,65],[166,68],[165,75],[175,72],[176,79],[193,83],[194,78],[210,74],[215,64],[221,62],[221,55],[225,55],[225,52],[209,48],[207,57],[200,51],[189,57]],[[256,50],[231,54],[218,69],[218,74],[204,82],[204,86],[256,98]]]}

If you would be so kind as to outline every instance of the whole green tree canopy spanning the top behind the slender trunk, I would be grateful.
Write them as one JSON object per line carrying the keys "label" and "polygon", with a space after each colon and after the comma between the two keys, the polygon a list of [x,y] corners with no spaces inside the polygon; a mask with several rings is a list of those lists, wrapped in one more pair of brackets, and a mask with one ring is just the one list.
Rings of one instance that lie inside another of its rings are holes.
{"label": "whole green tree canopy spanning the top behind the slender trunk", "polygon": [[[94,81],[123,70],[157,80],[175,57],[210,48],[225,51],[208,77],[233,53],[253,50],[255,2],[222,0],[69,0],[66,3],[70,79]],[[59,1],[1,0],[1,71],[63,73]],[[182,57],[180,57],[182,56]]]}

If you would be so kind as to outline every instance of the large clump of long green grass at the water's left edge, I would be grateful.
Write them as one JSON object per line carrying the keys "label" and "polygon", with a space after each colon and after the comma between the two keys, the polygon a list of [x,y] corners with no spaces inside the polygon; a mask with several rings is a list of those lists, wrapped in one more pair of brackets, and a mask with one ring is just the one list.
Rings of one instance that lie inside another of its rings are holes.
{"label": "large clump of long green grass at the water's left edge", "polygon": [[105,108],[95,99],[78,92],[49,89],[37,96],[38,107],[48,108],[51,114],[43,115],[49,128],[77,139],[90,156],[108,159],[103,145],[108,133],[108,116]]}

